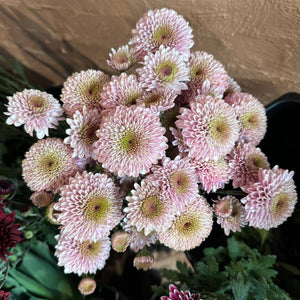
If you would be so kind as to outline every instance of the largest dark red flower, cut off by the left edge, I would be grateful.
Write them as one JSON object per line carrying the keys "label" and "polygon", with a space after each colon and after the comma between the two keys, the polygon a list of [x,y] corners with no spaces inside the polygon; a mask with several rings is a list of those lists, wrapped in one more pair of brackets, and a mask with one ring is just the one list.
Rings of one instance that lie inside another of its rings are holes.
{"label": "largest dark red flower, cut off by the left edge", "polygon": [[3,210],[3,206],[3,204],[0,204],[0,258],[7,261],[5,255],[12,254],[8,249],[15,247],[22,238],[20,236],[21,231],[18,230],[20,224],[14,224],[16,213],[12,212],[7,215]]}

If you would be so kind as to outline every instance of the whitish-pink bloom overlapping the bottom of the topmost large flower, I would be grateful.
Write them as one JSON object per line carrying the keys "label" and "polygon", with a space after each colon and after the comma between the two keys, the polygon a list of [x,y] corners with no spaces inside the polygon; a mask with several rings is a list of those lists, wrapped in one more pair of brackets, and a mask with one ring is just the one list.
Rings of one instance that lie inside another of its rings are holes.
{"label": "whitish-pink bloom overlapping the bottom of the topmost large flower", "polygon": [[175,49],[161,46],[154,54],[145,56],[143,65],[136,71],[147,91],[164,87],[180,94],[181,90],[187,89],[189,69],[184,56]]}

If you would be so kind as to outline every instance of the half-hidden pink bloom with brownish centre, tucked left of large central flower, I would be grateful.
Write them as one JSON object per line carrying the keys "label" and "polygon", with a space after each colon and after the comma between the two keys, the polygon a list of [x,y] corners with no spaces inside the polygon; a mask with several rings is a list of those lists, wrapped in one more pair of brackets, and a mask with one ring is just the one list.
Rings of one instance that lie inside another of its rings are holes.
{"label": "half-hidden pink bloom with brownish centre, tucked left of large central flower", "polygon": [[74,149],[73,157],[95,158],[92,145],[97,141],[96,131],[100,127],[101,114],[97,109],[83,107],[82,112],[76,110],[72,119],[67,119],[70,128],[66,130],[69,135],[64,139],[66,144]]}

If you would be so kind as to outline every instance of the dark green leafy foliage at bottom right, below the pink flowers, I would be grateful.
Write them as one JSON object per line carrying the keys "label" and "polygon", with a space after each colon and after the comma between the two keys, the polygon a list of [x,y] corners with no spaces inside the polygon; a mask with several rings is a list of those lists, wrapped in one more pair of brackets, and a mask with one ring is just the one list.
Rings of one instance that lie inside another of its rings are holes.
{"label": "dark green leafy foliage at bottom right, below the pink flowers", "polygon": [[167,295],[170,283],[180,290],[199,292],[203,299],[263,300],[290,299],[274,282],[276,257],[261,255],[244,242],[229,238],[227,248],[206,248],[194,269],[178,262],[177,270],[162,269],[168,282],[154,287],[158,295]]}

